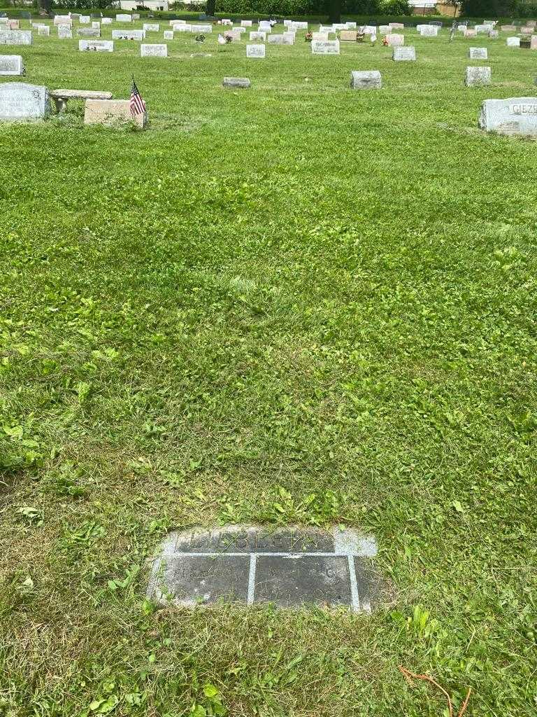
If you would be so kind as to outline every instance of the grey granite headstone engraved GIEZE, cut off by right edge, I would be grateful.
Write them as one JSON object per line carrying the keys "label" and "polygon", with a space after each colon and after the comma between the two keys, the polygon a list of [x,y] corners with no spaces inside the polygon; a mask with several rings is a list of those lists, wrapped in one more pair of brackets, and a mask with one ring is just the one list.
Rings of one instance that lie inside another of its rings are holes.
{"label": "grey granite headstone engraved GIEZE, cut off by right edge", "polygon": [[511,97],[485,100],[481,106],[479,126],[487,132],[507,135],[537,135],[537,98]]}

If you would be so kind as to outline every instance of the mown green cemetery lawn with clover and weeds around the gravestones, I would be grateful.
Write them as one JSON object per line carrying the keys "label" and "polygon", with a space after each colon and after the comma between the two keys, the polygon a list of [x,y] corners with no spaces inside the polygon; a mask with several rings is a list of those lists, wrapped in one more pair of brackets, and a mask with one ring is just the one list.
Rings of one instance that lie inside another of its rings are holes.
{"label": "mown green cemetery lawn with clover and weeds around the gravestones", "polygon": [[[405,665],[535,716],[537,145],[477,128],[534,55],[405,35],[2,47],[51,89],[134,72],[151,124],[0,126],[0,714],[447,714]],[[145,601],[166,532],[256,522],[374,533],[390,599]]]}

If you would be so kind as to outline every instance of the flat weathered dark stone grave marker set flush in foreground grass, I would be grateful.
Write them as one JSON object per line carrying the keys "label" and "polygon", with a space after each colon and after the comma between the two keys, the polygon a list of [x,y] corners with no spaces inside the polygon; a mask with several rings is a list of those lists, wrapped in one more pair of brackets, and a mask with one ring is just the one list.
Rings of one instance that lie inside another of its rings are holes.
{"label": "flat weathered dark stone grave marker set flush in foreground grass", "polygon": [[344,605],[370,612],[376,597],[372,538],[354,531],[228,526],[170,533],[153,560],[147,597],[195,607],[219,599]]}

